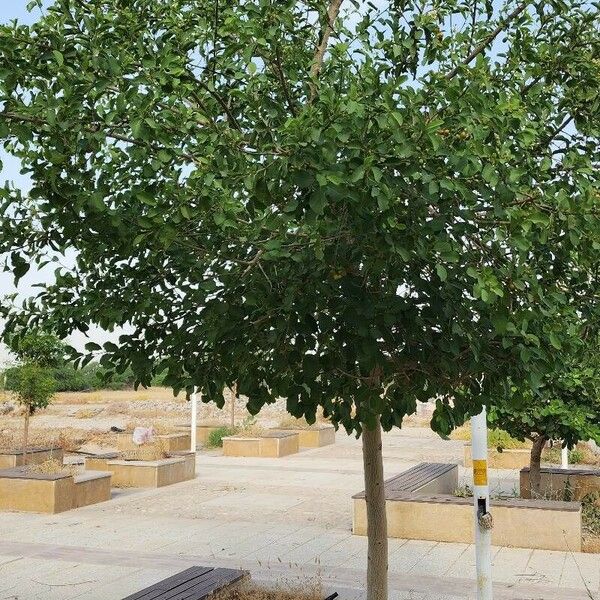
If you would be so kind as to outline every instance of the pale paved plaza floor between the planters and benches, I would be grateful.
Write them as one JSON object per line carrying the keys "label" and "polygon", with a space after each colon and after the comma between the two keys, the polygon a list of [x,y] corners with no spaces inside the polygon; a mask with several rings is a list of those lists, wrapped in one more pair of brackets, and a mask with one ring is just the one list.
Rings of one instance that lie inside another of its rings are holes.
{"label": "pale paved plaza floor between the planters and benches", "polygon": [[[426,429],[384,437],[386,476],[461,458],[462,442]],[[494,472],[496,490],[516,484],[516,472]],[[2,513],[0,600],[118,600],[198,564],[280,584],[320,580],[358,600],[366,539],[351,533],[351,496],[363,487],[360,441],[338,432],[335,446],[281,459],[198,454],[193,481],[119,490],[59,515]],[[474,560],[468,544],[390,540],[390,598],[473,598]],[[496,599],[600,599],[600,555],[494,548],[494,581]]]}

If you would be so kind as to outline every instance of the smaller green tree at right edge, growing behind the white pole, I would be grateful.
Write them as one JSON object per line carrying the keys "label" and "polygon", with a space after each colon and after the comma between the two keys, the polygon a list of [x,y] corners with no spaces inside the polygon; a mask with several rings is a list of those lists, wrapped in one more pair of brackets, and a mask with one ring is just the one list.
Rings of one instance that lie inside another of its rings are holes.
{"label": "smaller green tree at right edge, growing behind the white pole", "polygon": [[549,440],[562,440],[572,448],[579,441],[600,442],[600,360],[598,344],[587,344],[543,385],[532,390],[529,382],[510,386],[510,400],[494,406],[490,423],[519,440],[531,440],[529,485],[540,497],[541,458]]}

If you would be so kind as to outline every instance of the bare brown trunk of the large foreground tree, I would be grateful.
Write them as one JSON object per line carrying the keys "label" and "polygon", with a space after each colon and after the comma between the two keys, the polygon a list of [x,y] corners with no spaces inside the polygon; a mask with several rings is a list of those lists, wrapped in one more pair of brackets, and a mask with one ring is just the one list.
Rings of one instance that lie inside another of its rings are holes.
{"label": "bare brown trunk of the large foreground tree", "polygon": [[367,503],[367,600],[387,600],[388,541],[383,487],[383,457],[381,425],[363,429],[363,463],[365,469],[365,500]]}

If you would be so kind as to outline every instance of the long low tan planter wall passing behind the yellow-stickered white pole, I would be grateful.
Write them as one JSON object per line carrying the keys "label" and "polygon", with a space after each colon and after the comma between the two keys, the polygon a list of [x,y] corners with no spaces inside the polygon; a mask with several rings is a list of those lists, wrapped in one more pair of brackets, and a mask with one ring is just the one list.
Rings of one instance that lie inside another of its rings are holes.
{"label": "long low tan planter wall passing behind the yellow-stickered white pole", "polygon": [[[366,535],[364,498],[353,499],[353,533]],[[491,508],[495,546],[581,551],[581,504],[538,500],[497,500]],[[473,499],[450,495],[398,494],[386,501],[388,535],[393,538],[472,544]]]}

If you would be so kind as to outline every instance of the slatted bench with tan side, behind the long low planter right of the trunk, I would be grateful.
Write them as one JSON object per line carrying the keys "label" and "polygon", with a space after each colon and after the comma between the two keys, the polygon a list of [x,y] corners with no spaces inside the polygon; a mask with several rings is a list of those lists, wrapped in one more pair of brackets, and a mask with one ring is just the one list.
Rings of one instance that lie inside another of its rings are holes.
{"label": "slatted bench with tan side, behind the long low planter right of the trunk", "polygon": [[[457,487],[458,466],[448,463],[420,463],[387,479],[384,484],[386,500],[394,500],[410,492],[453,494]],[[365,492],[352,497],[364,498]]]}

